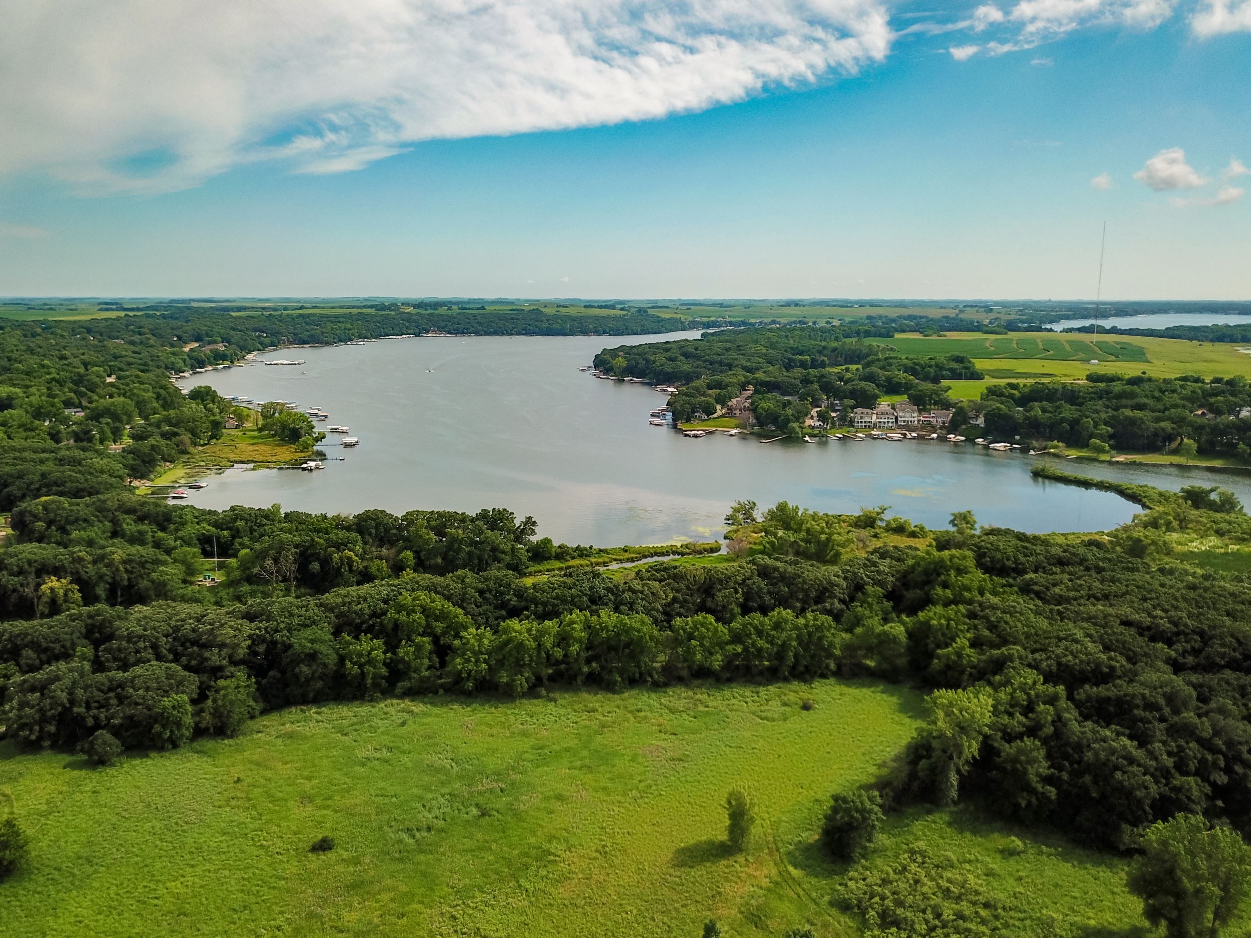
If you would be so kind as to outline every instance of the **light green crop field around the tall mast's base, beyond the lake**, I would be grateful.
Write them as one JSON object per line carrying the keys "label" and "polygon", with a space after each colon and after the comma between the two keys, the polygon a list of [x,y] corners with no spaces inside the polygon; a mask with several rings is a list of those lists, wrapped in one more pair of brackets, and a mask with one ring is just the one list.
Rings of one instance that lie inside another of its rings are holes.
{"label": "light green crop field around the tall mast's base, beyond the lake", "polygon": [[[1203,378],[1236,374],[1251,376],[1251,354],[1227,343],[1181,339],[1088,339],[1055,333],[982,335],[948,333],[945,336],[897,335],[867,341],[892,345],[908,355],[968,355],[987,378],[1000,380],[1081,379],[1091,371],[1146,373],[1155,378],[1198,374]],[[1097,359],[1097,365],[1090,360]]]}

